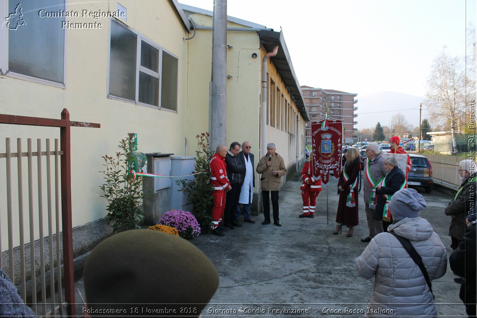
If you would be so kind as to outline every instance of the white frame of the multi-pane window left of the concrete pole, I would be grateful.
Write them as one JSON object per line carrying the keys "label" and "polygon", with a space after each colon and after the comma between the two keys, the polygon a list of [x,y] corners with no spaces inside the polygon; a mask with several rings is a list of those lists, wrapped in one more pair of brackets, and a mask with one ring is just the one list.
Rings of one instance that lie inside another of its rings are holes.
{"label": "white frame of the multi-pane window left of the concrete pole", "polygon": [[[118,97],[118,96],[114,96],[114,95],[111,95],[109,93],[109,67],[110,67],[110,60],[111,60],[111,29],[112,29],[112,24],[113,24],[113,21],[118,23],[119,25],[121,25],[122,27],[126,28],[127,30],[133,32],[136,37],[137,37],[137,41],[136,41],[136,82],[135,82],[135,101],[132,101],[132,100],[129,100],[129,99],[125,99],[125,98],[122,98],[122,97]],[[158,70],[157,70],[157,73],[152,71],[152,70],[149,70],[148,68],[144,67],[144,66],[141,66],[141,41],[145,41],[147,44],[151,45],[152,47],[154,47],[155,49],[157,49],[159,51],[158,53]],[[162,72],[162,54],[163,54],[163,51],[165,51],[167,54],[173,56],[174,58],[177,59],[177,72],[179,72],[179,58],[176,54],[164,49],[162,46],[158,45],[156,42],[152,41],[151,39],[147,38],[146,36],[144,36],[143,34],[139,33],[138,31],[134,30],[133,28],[129,27],[128,25],[124,24],[122,21],[119,21],[117,19],[114,19],[114,18],[110,18],[110,21],[109,21],[109,33],[108,33],[108,73],[107,73],[107,83],[106,83],[106,97],[109,98],[109,99],[113,99],[113,100],[117,100],[117,101],[121,101],[121,102],[125,102],[125,103],[131,103],[131,104],[135,104],[135,105],[141,105],[141,106],[145,106],[145,107],[149,107],[149,108],[153,108],[153,109],[157,109],[157,110],[163,110],[163,111],[166,111],[166,112],[172,112],[172,113],[177,113],[177,110],[172,110],[172,109],[168,109],[168,108],[163,108],[161,107],[161,93],[162,93],[162,77],[161,77],[161,72]],[[154,76],[156,77],[157,79],[159,79],[159,94],[158,94],[158,98],[159,98],[159,101],[158,101],[158,106],[156,105],[150,105],[150,104],[146,104],[146,103],[141,103],[139,102],[139,72],[143,72],[143,73],[146,73],[150,76]],[[176,87],[177,87],[177,94],[179,93],[179,90],[178,90],[178,82],[179,82],[179,76],[177,76],[177,83],[176,83]],[[178,100],[178,99],[177,99]],[[178,102],[178,101],[177,101]],[[177,108],[177,104],[176,104],[176,108]]]}

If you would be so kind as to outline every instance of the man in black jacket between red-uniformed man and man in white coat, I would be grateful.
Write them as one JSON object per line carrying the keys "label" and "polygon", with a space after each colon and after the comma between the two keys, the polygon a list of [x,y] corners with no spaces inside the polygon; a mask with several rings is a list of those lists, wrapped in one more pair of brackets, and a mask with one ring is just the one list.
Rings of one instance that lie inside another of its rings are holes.
{"label": "man in black jacket between red-uniformed man and man in white coat", "polygon": [[229,229],[234,229],[235,226],[242,227],[242,225],[235,220],[235,211],[237,210],[237,205],[239,205],[240,191],[243,184],[242,173],[245,171],[245,166],[237,156],[240,151],[240,146],[238,142],[234,141],[230,144],[230,149],[225,156],[228,181],[232,187],[232,190],[227,192],[224,211],[224,226]]}

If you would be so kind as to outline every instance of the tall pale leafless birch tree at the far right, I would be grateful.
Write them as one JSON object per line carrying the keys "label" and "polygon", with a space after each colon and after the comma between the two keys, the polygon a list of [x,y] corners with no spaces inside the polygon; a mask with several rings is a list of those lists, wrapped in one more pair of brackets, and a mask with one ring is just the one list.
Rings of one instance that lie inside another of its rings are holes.
{"label": "tall pale leafless birch tree at the far right", "polygon": [[466,75],[459,58],[453,58],[442,51],[435,59],[427,78],[427,109],[431,118],[450,128],[454,153],[458,153],[456,125],[465,110]]}

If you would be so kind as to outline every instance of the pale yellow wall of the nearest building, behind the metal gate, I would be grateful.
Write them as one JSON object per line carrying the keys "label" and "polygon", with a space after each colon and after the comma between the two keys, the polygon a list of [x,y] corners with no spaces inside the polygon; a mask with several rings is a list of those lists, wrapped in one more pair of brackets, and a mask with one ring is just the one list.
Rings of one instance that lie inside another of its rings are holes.
{"label": "pale yellow wall of the nearest building, behind the metal gate", "polygon": [[[104,182],[103,175],[98,173],[104,169],[101,156],[114,156],[119,150],[119,140],[125,138],[127,133],[137,133],[140,152],[186,154],[187,42],[183,38],[187,38],[189,33],[170,1],[122,0],[121,5],[127,9],[127,21],[119,21],[178,57],[177,112],[109,99],[110,18],[81,18],[81,10],[114,11],[116,3],[68,1],[68,10],[80,12],[80,18],[71,18],[69,21],[96,21],[101,22],[103,27],[67,30],[65,89],[1,76],[1,113],[59,119],[62,109],[67,108],[72,121],[101,124],[100,129],[71,128],[73,227],[106,215],[107,201],[100,197],[102,193],[99,189]],[[28,137],[35,138],[34,149],[36,138],[59,138],[58,128],[0,125],[0,129],[2,137],[12,138],[12,152],[16,152],[17,137],[24,138],[24,152]],[[4,151],[5,141],[2,139],[0,152]],[[4,168],[0,170],[4,173]],[[26,174],[26,167],[23,170]],[[0,187],[3,186],[2,183]],[[5,193],[3,190],[0,189],[0,193]],[[4,195],[0,196],[2,206],[5,206],[5,200]],[[4,226],[5,223],[2,223],[2,235],[7,233]]]}

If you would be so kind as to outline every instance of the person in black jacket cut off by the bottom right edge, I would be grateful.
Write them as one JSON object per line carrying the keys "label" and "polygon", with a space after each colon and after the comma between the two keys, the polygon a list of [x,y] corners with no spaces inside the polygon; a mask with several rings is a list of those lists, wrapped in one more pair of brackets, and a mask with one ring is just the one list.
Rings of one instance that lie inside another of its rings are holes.
{"label": "person in black jacket cut off by the bottom right edge", "polygon": [[[472,216],[475,216],[475,214]],[[466,305],[469,317],[476,317],[476,230],[477,221],[474,220],[467,226],[467,232],[462,242],[449,257],[450,269],[457,275],[464,277],[462,285],[460,285],[459,297]]]}

